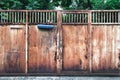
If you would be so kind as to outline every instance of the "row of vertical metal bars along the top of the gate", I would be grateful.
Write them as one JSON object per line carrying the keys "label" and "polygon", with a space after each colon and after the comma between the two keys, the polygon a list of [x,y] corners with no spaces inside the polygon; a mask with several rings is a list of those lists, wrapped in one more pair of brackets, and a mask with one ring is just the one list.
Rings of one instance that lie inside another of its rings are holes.
{"label": "row of vertical metal bars along the top of the gate", "polygon": [[[56,24],[57,12],[54,10],[0,10],[0,24]],[[72,10],[61,11],[63,24],[87,24],[91,14],[92,24],[118,24],[119,10]],[[26,15],[28,14],[28,15]]]}

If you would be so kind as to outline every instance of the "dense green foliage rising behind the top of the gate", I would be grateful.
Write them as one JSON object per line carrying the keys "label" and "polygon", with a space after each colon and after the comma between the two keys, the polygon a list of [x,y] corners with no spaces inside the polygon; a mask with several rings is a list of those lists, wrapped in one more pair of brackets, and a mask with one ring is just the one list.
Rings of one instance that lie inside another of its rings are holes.
{"label": "dense green foliage rising behind the top of the gate", "polygon": [[61,6],[67,10],[120,9],[120,0],[0,0],[0,9],[51,10]]}

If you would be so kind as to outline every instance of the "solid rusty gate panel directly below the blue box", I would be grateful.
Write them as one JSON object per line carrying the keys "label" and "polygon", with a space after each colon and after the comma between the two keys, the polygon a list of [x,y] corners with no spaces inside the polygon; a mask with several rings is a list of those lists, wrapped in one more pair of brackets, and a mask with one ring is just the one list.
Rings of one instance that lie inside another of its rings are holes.
{"label": "solid rusty gate panel directly below the blue box", "polygon": [[29,28],[29,73],[56,71],[56,30]]}

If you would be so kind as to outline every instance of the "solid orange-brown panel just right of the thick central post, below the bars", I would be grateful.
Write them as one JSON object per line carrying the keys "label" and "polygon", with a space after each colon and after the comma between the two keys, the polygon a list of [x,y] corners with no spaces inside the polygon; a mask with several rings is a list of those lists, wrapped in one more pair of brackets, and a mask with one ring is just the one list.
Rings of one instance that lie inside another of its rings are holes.
{"label": "solid orange-brown panel just right of the thick central post, below the bars", "polygon": [[63,69],[86,70],[89,67],[87,53],[88,32],[86,25],[63,25]]}

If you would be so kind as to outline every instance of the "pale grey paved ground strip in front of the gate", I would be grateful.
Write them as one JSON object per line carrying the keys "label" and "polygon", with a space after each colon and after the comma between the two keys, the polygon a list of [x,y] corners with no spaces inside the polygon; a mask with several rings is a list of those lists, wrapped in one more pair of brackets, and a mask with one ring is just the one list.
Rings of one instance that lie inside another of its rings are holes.
{"label": "pale grey paved ground strip in front of the gate", "polygon": [[120,77],[0,77],[0,80],[120,80]]}

